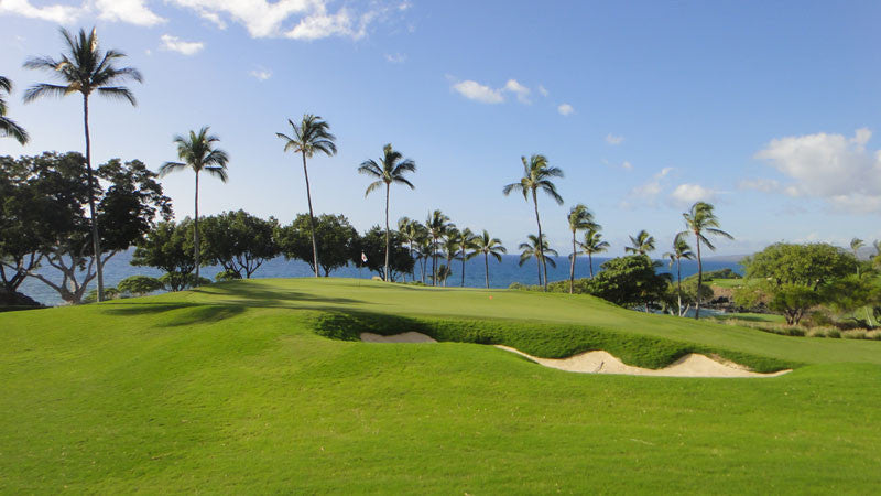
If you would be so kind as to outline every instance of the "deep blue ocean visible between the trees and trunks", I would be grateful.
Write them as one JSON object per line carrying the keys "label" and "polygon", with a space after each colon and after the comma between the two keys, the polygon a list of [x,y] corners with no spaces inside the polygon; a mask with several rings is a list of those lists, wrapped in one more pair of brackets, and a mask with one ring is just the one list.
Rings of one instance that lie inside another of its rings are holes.
{"label": "deep blue ocean visible between the trees and trunks", "polygon": [[[160,277],[162,276],[162,271],[159,269],[153,269],[151,267],[134,267],[131,266],[129,262],[131,260],[133,250],[123,251],[117,254],[113,258],[110,259],[109,262],[105,266],[105,285],[112,287],[119,283],[119,281],[128,278],[129,276],[142,274],[142,276],[151,276],[151,277]],[[551,281],[558,281],[558,280],[567,280],[569,278],[569,259],[567,257],[553,257],[554,261],[556,262],[556,268],[547,266],[547,278]],[[594,258],[594,272],[598,272],[599,266],[609,260],[608,257],[595,257]],[[512,282],[520,282],[522,284],[537,284],[539,283],[539,269],[535,263],[535,260],[532,259],[521,267],[518,262],[520,261],[520,257],[516,255],[507,255],[502,256],[502,261],[498,262],[493,258],[490,257],[489,262],[489,285],[490,288],[508,288],[511,285]],[[446,263],[446,261],[442,261],[438,259],[438,263]],[[432,261],[428,260],[427,269],[431,272],[431,265]],[[52,267],[48,267],[44,263],[45,267],[41,268],[39,271],[43,274],[47,274],[54,281],[61,281],[61,273]],[[447,287],[455,287],[458,288],[461,285],[461,262],[455,261],[452,263],[453,266],[453,276],[447,279]],[[713,270],[720,270],[720,269],[732,269],[738,273],[743,272],[743,268],[733,261],[727,260],[704,260],[704,272],[709,272]],[[673,272],[675,277],[676,266],[674,265],[671,269],[667,263],[664,263],[663,268],[661,269],[662,272]],[[214,279],[215,274],[220,272],[220,267],[203,267],[199,270],[203,277]],[[686,278],[688,276],[697,273],[697,261],[693,260],[683,260],[682,261],[682,277]],[[252,276],[253,278],[304,278],[304,277],[312,277],[313,272],[309,269],[309,266],[301,260],[285,260],[284,257],[278,257],[272,260],[267,261],[263,266],[258,269],[257,272]],[[589,277],[589,268],[587,262],[587,257],[578,257],[578,260],[575,263],[575,277],[578,278],[586,278]],[[370,279],[373,276],[378,276],[376,272],[370,272],[367,269],[362,269],[361,271],[354,266],[344,267],[341,269],[337,269],[330,272],[330,277],[335,278],[362,278],[362,279]],[[483,257],[476,257],[471,260],[465,262],[465,287],[466,288],[485,288],[485,267],[483,267]],[[416,279],[420,280],[420,268],[416,267]],[[407,276],[407,281],[411,278]],[[426,278],[426,281],[429,279]],[[93,285],[97,283],[93,281]],[[22,293],[33,298],[34,300],[45,304],[45,305],[59,305],[63,304],[62,299],[58,296],[58,293],[55,292],[52,288],[44,284],[43,282],[39,281],[34,278],[28,278],[22,285],[19,288],[19,291]]]}

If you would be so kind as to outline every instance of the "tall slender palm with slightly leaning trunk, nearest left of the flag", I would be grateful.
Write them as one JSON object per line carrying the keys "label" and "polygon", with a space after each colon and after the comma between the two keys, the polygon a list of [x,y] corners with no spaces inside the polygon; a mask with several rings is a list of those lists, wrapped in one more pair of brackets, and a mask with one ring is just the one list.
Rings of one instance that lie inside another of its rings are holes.
{"label": "tall slender palm with slightly leaning trunk, nearest left of the flag", "polygon": [[[306,179],[306,202],[309,204],[309,235],[312,236],[312,261],[315,267],[315,277],[318,277],[318,244],[315,241],[315,214],[312,211],[312,192],[309,191],[309,172],[306,169],[306,159],[312,159],[315,152],[325,155],[335,155],[337,145],[336,137],[330,133],[330,126],[322,120],[320,116],[304,114],[300,125],[287,119],[291,125],[291,136],[276,132],[275,136],[284,140],[284,151],[293,151],[303,157],[303,176]],[[388,267],[387,273],[388,273]]]}

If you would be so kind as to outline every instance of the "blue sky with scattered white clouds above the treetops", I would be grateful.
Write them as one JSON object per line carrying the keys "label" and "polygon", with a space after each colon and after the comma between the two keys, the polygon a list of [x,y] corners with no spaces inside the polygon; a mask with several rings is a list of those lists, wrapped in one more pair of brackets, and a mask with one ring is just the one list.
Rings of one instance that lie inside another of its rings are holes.
{"label": "blue sky with scattered white clouds above the treetops", "polygon": [[[382,224],[383,195],[357,173],[392,143],[416,162],[391,218],[439,208],[513,251],[533,207],[502,187],[522,155],[565,177],[564,205],[540,195],[543,230],[570,246],[568,209],[587,205],[610,255],[640,229],[670,250],[696,201],[716,206],[718,255],[776,241],[881,239],[881,3],[873,1],[0,0],[0,74],[22,147],[83,151],[81,100],[23,104],[51,75],[58,26],[96,26],[143,84],[131,107],[93,98],[94,163],[176,160],[175,134],[203,126],[230,155],[206,179],[199,212],[242,208],[290,223],[307,212],[302,162],[276,132],[319,115],[335,157],[309,163],[316,213]],[[175,215],[193,215],[194,177],[162,179]]]}

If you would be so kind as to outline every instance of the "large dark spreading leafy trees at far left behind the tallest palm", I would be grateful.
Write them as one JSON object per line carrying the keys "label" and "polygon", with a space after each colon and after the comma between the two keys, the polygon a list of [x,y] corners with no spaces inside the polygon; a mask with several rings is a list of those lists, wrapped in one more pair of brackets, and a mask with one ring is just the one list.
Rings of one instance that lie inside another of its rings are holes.
{"label": "large dark spreading leafy trees at far left behind the tallest palm", "polygon": [[[18,192],[4,202],[4,212],[12,212],[12,217],[19,212],[22,217],[9,226],[12,238],[7,246],[11,248],[3,248],[3,265],[19,273],[28,271],[68,303],[81,301],[97,276],[96,261],[104,263],[139,241],[157,216],[171,216],[171,201],[162,194],[156,174],[140,161],[113,159],[99,166],[95,176],[101,181],[91,192],[79,154],[44,153],[19,162],[13,185]],[[99,257],[94,256],[93,223],[85,214],[90,198],[97,201]],[[33,272],[26,251],[37,252],[34,258],[57,269],[62,279]],[[28,262],[22,261],[24,257]]]}

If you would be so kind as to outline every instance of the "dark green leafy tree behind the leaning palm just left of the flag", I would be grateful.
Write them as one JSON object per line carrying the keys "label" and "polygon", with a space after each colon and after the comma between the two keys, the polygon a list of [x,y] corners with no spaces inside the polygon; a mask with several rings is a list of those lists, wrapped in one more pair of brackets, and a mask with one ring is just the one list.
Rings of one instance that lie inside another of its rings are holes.
{"label": "dark green leafy tree behind the leaning palm just left of the flag", "polygon": [[[315,251],[312,245],[313,231],[308,214],[298,214],[289,226],[275,228],[275,242],[286,259],[303,260],[312,267]],[[315,217],[315,240],[322,247],[318,251],[318,266],[325,277],[330,271],[346,267],[349,260],[360,262],[358,231],[344,215],[323,214]],[[315,267],[313,267],[313,271]]]}

